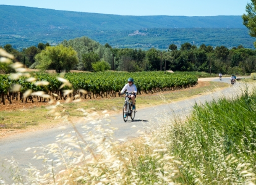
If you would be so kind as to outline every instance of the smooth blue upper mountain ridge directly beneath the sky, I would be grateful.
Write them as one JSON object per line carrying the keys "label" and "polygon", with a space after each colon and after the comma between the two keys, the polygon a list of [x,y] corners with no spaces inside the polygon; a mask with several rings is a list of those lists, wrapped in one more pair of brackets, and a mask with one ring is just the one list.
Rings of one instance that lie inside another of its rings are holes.
{"label": "smooth blue upper mountain ridge directly beneath the sky", "polygon": [[0,31],[244,28],[241,16],[127,16],[0,5]]}

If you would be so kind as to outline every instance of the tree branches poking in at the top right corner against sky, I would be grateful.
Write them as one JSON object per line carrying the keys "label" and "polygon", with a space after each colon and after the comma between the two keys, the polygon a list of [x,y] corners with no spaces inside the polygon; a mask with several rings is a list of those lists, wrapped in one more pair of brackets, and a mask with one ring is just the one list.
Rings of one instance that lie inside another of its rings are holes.
{"label": "tree branches poking in at the top right corner against sky", "polygon": [[[247,3],[245,11],[247,14],[242,15],[243,24],[249,29],[249,35],[256,37],[256,0],[251,0],[251,3]],[[256,41],[254,42],[256,47]]]}

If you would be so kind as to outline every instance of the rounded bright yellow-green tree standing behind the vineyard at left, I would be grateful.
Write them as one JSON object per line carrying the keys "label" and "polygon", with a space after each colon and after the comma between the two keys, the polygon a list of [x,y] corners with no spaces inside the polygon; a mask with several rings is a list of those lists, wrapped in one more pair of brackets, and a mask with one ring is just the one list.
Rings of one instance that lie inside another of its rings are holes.
{"label": "rounded bright yellow-green tree standing behind the vineyard at left", "polygon": [[72,47],[64,47],[62,44],[55,47],[46,47],[35,56],[36,68],[42,70],[54,69],[57,73],[70,72],[78,64],[77,52]]}

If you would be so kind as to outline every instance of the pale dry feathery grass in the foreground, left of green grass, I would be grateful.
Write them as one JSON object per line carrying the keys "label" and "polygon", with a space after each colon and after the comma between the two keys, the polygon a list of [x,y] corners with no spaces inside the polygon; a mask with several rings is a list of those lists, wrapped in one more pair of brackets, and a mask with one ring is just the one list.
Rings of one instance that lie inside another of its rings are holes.
{"label": "pale dry feathery grass in the foreground, left of green grass", "polygon": [[[1,62],[11,63],[12,55],[2,49],[0,55]],[[38,86],[48,84],[46,81],[36,81],[19,62],[11,64],[11,67],[16,73],[12,73],[10,78],[25,76]],[[66,79],[58,77],[58,80],[62,82],[60,89],[64,86],[72,87]],[[20,85],[14,84],[12,89],[19,91],[20,88]],[[72,93],[72,90],[63,92],[65,95]],[[51,105],[47,107],[49,113],[55,119],[74,126],[74,131],[56,136],[56,142],[48,146],[26,149],[35,154],[33,160],[43,162],[43,167],[33,166],[32,160],[28,167],[22,168],[15,162],[15,158],[7,159],[2,165],[2,174],[5,175],[1,178],[1,184],[173,184],[177,178],[179,162],[169,155],[166,144],[158,137],[142,133],[136,141],[116,141],[113,136],[115,128],[103,125],[101,120],[91,120],[80,131],[69,119],[69,115],[61,115],[56,111],[57,107],[63,106],[61,102],[54,101],[41,91],[28,90],[24,96],[51,99]],[[64,104],[79,101],[67,99]],[[90,119],[88,112],[78,110]],[[104,113],[104,117],[107,117],[107,113]]]}

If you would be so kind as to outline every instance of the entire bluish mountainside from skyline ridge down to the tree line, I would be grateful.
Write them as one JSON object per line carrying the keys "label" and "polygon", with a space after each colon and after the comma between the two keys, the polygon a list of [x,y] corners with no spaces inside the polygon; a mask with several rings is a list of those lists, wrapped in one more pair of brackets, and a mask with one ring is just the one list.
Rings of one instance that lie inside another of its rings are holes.
{"label": "entire bluish mountainside from skyline ridge down to the tree line", "polygon": [[113,47],[200,46],[254,48],[241,16],[124,16],[0,5],[0,46],[16,49],[88,36]]}

